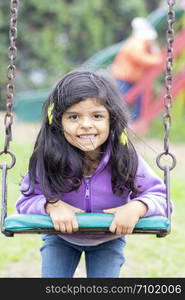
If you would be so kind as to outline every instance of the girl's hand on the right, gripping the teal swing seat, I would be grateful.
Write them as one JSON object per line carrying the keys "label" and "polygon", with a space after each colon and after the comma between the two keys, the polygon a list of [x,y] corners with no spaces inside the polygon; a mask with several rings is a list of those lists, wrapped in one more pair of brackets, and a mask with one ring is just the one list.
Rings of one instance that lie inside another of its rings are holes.
{"label": "girl's hand on the right, gripping the teal swing seat", "polygon": [[139,218],[147,212],[147,206],[141,201],[131,201],[125,205],[104,209],[104,213],[115,214],[109,230],[117,235],[131,234]]}

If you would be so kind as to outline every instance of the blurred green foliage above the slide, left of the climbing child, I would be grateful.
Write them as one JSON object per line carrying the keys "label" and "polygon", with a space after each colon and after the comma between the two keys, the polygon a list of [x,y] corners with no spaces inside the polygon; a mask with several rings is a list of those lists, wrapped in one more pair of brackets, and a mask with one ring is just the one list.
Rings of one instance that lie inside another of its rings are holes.
{"label": "blurred green foliage above the slide, left of the climbing child", "polygon": [[[9,2],[0,2],[0,108],[6,90]],[[130,22],[160,0],[20,0],[17,91],[46,88],[95,52],[130,34]]]}

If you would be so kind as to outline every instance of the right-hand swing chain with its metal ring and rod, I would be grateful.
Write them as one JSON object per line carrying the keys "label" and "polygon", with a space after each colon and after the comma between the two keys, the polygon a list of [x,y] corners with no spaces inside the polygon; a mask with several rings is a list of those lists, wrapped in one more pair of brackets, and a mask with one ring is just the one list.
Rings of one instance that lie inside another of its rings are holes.
{"label": "right-hand swing chain with its metal ring and rod", "polygon": [[[167,0],[168,3],[168,14],[167,14],[167,33],[166,33],[166,40],[167,40],[167,56],[166,56],[166,74],[165,74],[165,88],[166,94],[164,95],[164,107],[165,112],[163,114],[163,124],[165,130],[164,136],[164,152],[159,154],[156,158],[156,162],[158,167],[164,171],[164,181],[166,184],[166,194],[167,194],[167,217],[170,219],[170,177],[169,172],[175,168],[176,166],[176,158],[175,156],[169,151],[169,133],[171,127],[171,114],[170,109],[172,107],[172,95],[171,95],[171,88],[172,88],[172,70],[173,70],[173,41],[174,41],[174,30],[173,30],[173,23],[175,22],[175,11],[174,5],[175,0]],[[161,158],[164,156],[168,156],[171,158],[171,165],[162,165]]]}

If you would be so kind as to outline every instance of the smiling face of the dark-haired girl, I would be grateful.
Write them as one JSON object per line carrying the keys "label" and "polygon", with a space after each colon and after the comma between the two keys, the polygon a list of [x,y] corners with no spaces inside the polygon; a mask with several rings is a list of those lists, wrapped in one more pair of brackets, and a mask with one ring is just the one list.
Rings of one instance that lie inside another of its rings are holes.
{"label": "smiling face of the dark-haired girl", "polygon": [[68,143],[98,154],[109,135],[109,112],[96,98],[87,98],[64,112],[62,126]]}

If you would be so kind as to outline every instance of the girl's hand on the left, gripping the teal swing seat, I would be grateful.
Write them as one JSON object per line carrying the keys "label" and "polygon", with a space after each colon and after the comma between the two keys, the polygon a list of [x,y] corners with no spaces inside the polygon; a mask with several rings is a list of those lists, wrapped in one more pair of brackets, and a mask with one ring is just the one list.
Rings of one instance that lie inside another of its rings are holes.
{"label": "girl's hand on the left, gripping the teal swing seat", "polygon": [[84,210],[61,200],[55,203],[47,203],[45,210],[50,215],[56,231],[61,231],[62,233],[78,231],[75,213],[83,213]]}

